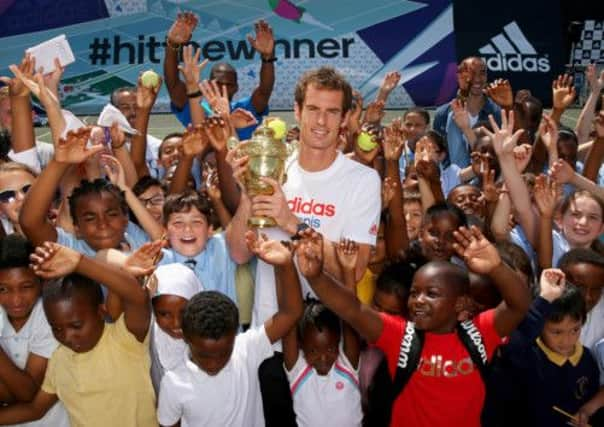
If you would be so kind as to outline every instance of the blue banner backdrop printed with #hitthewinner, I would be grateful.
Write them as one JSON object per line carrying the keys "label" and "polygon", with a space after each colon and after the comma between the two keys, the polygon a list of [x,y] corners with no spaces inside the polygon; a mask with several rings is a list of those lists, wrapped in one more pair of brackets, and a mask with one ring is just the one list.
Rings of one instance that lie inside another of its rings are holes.
{"label": "blue banner backdrop printed with #hitthewinner", "polygon": [[[401,71],[390,108],[436,105],[455,91],[451,0],[0,0],[0,75],[10,74],[8,64],[28,47],[66,34],[76,62],[63,79],[63,104],[98,112],[113,89],[134,84],[141,71],[161,74],[164,38],[181,10],[200,17],[192,41],[202,55],[237,68],[242,95],[256,86],[260,69],[246,35],[258,19],[269,22],[279,58],[273,109],[291,109],[298,77],[320,65],[342,71],[365,99],[386,72]],[[165,89],[158,107],[167,110]]]}

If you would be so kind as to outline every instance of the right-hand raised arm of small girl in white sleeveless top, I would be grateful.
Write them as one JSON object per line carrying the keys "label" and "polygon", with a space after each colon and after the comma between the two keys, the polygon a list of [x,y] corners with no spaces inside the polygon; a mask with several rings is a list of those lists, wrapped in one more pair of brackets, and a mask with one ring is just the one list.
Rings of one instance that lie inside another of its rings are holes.
{"label": "right-hand raised arm of small girl in white sleeveless top", "polygon": [[[356,242],[348,239],[341,239],[340,243],[336,245],[336,258],[342,268],[344,285],[355,297],[357,296],[357,281],[355,280],[354,270],[357,265],[358,256],[359,245]],[[361,352],[359,336],[348,323],[344,322],[342,326],[344,354],[346,354],[346,358],[356,369],[359,366],[359,354]]]}

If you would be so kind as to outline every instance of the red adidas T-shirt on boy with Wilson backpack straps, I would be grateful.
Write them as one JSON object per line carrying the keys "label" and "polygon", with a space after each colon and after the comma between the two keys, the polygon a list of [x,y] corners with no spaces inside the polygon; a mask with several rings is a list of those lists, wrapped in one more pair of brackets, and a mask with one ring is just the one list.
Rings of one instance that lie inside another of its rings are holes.
{"label": "red adidas T-shirt on boy with Wilson backpack straps", "polygon": [[[394,378],[401,341],[407,320],[380,314],[382,334],[375,342],[388,361]],[[473,319],[491,360],[501,338],[494,326],[495,310],[487,310]],[[425,333],[417,371],[395,398],[391,426],[405,427],[479,427],[485,386],[470,354],[457,332]]]}

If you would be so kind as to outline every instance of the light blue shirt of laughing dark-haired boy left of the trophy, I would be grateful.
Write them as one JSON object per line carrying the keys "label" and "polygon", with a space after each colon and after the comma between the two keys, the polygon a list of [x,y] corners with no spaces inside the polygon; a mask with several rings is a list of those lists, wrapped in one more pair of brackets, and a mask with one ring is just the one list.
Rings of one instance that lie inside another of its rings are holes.
{"label": "light blue shirt of laughing dark-haired boy left of the trophy", "polygon": [[204,249],[194,257],[179,254],[174,249],[163,249],[159,265],[181,263],[193,270],[206,291],[218,291],[237,304],[235,270],[237,264],[229,254],[224,234],[214,234]]}

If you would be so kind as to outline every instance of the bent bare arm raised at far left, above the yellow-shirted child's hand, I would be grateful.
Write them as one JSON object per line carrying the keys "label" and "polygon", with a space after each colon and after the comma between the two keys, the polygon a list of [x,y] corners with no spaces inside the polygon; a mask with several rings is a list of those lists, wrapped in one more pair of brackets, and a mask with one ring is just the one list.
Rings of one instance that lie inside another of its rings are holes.
{"label": "bent bare arm raised at far left, above the yellow-shirted child's hand", "polygon": [[56,241],[57,230],[46,219],[61,178],[72,164],[80,164],[104,149],[103,145],[86,147],[90,127],[69,131],[55,145],[54,158],[48,163],[25,196],[19,224],[34,245]]}

